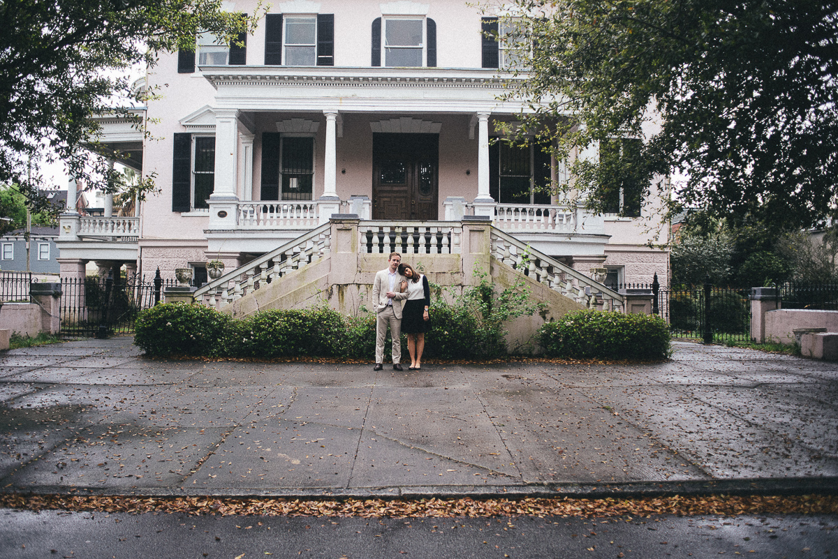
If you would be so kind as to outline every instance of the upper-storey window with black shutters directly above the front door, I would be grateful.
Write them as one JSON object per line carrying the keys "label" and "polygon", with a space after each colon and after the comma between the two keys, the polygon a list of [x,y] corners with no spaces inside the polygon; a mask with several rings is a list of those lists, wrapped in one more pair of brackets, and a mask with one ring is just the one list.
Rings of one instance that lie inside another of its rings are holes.
{"label": "upper-storey window with black shutters directly above the front door", "polygon": [[437,23],[431,18],[388,16],[372,23],[372,65],[433,67],[437,65]]}

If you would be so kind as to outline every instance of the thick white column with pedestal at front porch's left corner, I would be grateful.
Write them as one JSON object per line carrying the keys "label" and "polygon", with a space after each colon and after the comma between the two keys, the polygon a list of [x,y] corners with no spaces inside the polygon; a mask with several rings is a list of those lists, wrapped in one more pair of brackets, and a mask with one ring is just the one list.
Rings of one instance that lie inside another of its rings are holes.
{"label": "thick white column with pedestal at front porch's left corner", "polygon": [[235,228],[239,197],[235,194],[238,177],[239,111],[215,110],[215,188],[209,195],[210,229]]}

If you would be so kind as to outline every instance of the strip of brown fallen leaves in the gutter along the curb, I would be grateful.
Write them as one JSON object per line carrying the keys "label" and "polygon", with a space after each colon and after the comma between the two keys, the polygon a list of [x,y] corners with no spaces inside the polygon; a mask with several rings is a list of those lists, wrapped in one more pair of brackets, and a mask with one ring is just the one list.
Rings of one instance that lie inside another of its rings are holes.
{"label": "strip of brown fallen leaves in the gutter along the curb", "polygon": [[0,495],[0,507],[73,512],[168,512],[189,515],[360,516],[362,518],[836,514],[838,495],[714,495],[638,499],[299,500],[271,498]]}

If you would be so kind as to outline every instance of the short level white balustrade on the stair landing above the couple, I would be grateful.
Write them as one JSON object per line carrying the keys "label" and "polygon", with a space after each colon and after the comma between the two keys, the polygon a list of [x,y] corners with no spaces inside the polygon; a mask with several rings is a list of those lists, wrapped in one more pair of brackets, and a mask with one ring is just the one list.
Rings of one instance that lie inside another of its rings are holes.
{"label": "short level white balustrade on the stair landing above the couple", "polygon": [[459,254],[463,224],[458,221],[361,221],[361,252],[367,254]]}

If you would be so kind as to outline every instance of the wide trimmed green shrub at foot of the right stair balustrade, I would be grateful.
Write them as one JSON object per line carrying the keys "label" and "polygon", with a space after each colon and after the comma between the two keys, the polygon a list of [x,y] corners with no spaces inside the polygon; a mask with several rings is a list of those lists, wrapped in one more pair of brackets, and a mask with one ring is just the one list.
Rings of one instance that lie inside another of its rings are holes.
{"label": "wide trimmed green shrub at foot of the right stair balustrade", "polygon": [[541,326],[547,356],[577,359],[666,359],[670,331],[660,316],[580,310]]}

